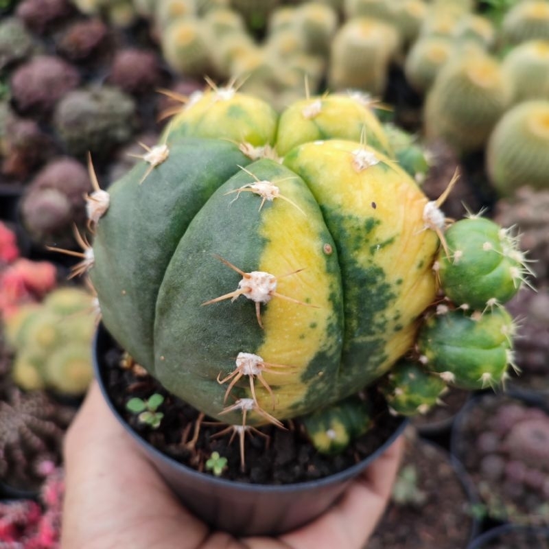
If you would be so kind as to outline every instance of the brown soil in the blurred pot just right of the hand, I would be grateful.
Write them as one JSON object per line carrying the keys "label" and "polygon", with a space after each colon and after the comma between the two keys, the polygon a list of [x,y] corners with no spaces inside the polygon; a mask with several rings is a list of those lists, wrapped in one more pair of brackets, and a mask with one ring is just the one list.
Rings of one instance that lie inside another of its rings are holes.
{"label": "brown soil in the blurred pot just right of the hand", "polygon": [[449,455],[416,438],[408,440],[401,471],[409,465],[417,471],[423,502],[390,503],[366,549],[465,549],[474,519]]}

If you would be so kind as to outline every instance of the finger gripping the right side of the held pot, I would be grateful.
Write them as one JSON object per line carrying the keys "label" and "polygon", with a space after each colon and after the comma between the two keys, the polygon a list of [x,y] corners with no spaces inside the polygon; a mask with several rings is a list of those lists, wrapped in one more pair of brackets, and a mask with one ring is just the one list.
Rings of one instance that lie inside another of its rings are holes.
{"label": "finger gripping the right side of the held pot", "polygon": [[373,532],[390,495],[404,447],[399,437],[358,477],[342,499],[311,524],[288,533],[281,541],[295,549],[359,549]]}

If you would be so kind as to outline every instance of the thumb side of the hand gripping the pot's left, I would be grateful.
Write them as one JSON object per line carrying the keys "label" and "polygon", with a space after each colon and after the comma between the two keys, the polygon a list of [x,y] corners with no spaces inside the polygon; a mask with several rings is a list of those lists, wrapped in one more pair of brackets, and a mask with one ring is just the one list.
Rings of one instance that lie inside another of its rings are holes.
{"label": "thumb side of the hand gripping the pot's left", "polygon": [[162,549],[183,535],[198,547],[207,527],[183,509],[94,383],[65,441],[61,547]]}

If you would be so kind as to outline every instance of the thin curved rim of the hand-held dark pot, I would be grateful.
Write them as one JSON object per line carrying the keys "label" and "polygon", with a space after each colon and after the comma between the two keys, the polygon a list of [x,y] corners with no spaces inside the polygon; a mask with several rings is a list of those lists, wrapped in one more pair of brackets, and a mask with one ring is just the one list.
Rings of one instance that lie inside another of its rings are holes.
{"label": "thin curved rim of the hand-held dark pot", "polygon": [[355,465],[351,465],[351,467],[348,467],[347,469],[344,469],[343,471],[339,471],[338,473],[335,473],[330,476],[326,476],[323,478],[319,478],[316,480],[305,480],[303,482],[294,482],[291,484],[255,484],[255,483],[248,483],[248,482],[242,482],[240,480],[227,480],[224,478],[218,478],[210,474],[201,473],[200,471],[196,471],[196,469],[193,469],[191,467],[188,467],[187,465],[184,465],[183,463],[180,463],[177,460],[174,460],[170,456],[167,456],[163,452],[161,452],[159,449],[148,443],[148,441],[145,441],[143,437],[141,437],[135,430],[133,430],[128,422],[124,419],[124,417],[121,416],[119,411],[115,408],[113,402],[111,401],[108,392],[106,390],[106,386],[104,383],[104,375],[102,375],[102,370],[100,366],[100,361],[98,360],[98,353],[97,349],[102,346],[102,343],[105,344],[107,338],[112,338],[110,334],[108,334],[108,331],[106,327],[103,325],[103,323],[100,323],[98,325],[97,330],[95,331],[95,334],[93,336],[93,370],[95,373],[95,379],[97,379],[97,382],[100,386],[101,393],[106,401],[106,404],[110,408],[111,412],[115,415],[116,419],[121,423],[121,425],[124,427],[124,430],[130,434],[132,439],[136,441],[141,449],[144,449],[145,452],[148,454],[152,454],[156,460],[160,460],[165,465],[168,465],[171,468],[175,468],[176,471],[180,472],[181,474],[185,474],[187,476],[190,476],[191,478],[197,478],[202,481],[208,480],[213,484],[214,486],[220,486],[220,487],[231,487],[231,489],[234,489],[236,491],[243,491],[243,492],[252,492],[252,493],[281,493],[281,492],[303,492],[308,491],[309,489],[323,487],[323,486],[329,486],[331,484],[338,484],[340,482],[344,482],[346,480],[351,480],[352,478],[358,476],[361,471],[366,469],[371,463],[375,461],[379,456],[381,456],[390,445],[395,442],[395,440],[404,432],[406,429],[406,426],[409,423],[408,418],[401,417],[401,423],[398,425],[398,427],[395,429],[395,431],[384,441],[382,445],[377,447],[375,451],[361,460],[358,463],[355,463]]}

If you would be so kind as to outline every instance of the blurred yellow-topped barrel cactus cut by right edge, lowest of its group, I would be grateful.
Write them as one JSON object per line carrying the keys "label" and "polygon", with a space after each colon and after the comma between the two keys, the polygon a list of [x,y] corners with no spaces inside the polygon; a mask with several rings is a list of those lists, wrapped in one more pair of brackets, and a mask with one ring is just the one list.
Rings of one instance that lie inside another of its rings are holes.
{"label": "blurred yellow-topped barrel cactus cut by right edge, lowest of its group", "polygon": [[531,100],[509,109],[493,128],[487,172],[502,196],[523,185],[549,188],[549,100]]}

